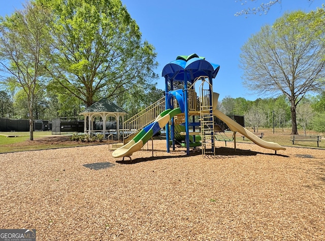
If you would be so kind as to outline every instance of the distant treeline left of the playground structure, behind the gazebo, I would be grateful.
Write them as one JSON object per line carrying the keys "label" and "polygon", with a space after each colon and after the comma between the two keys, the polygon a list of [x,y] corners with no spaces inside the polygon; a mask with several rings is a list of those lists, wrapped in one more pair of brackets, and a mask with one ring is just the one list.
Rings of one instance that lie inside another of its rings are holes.
{"label": "distant treeline left of the playground structure, behind the gazebo", "polygon": [[[9,91],[8,88],[3,85],[3,89],[0,90],[0,117],[28,119],[29,110],[26,94],[20,88],[15,88],[13,91]],[[133,92],[125,93],[113,101],[123,108],[128,116],[133,116],[164,96],[165,91],[157,89],[154,85],[148,85],[147,89],[133,90]],[[34,119],[43,120],[59,117],[79,119],[83,117],[79,116],[79,113],[85,108],[85,103],[80,99],[60,95],[50,90],[39,92],[32,105]]]}

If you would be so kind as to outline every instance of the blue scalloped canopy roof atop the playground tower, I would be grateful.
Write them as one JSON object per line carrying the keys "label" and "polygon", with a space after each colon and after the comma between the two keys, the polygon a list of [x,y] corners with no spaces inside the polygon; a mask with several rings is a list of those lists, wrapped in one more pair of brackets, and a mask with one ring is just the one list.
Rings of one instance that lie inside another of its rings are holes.
{"label": "blue scalloped canopy roof atop the playground tower", "polygon": [[175,61],[167,64],[161,72],[161,76],[169,77],[177,81],[184,81],[184,71],[186,70],[187,80],[193,80],[203,75],[209,75],[210,73],[212,78],[215,78],[219,68],[219,65],[211,64],[204,57],[199,57],[197,54],[182,55],[178,56]]}

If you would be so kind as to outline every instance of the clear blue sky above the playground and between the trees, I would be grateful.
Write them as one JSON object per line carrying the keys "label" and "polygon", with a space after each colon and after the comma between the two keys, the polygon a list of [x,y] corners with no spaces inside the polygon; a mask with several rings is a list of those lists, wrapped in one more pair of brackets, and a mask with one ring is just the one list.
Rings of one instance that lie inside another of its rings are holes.
{"label": "clear blue sky above the playground and between the trees", "polygon": [[[21,9],[25,0],[10,0],[1,4],[0,15],[10,15]],[[224,97],[243,97],[247,100],[265,98],[252,95],[242,85],[243,71],[239,68],[240,49],[248,38],[265,24],[273,22],[284,13],[303,10],[309,12],[321,7],[323,0],[282,0],[266,15],[235,16],[236,12],[257,7],[268,0],[256,0],[246,5],[236,0],[122,0],[131,17],[136,20],[142,37],[151,43],[157,52],[161,70],[178,55],[197,53],[206,60],[220,65],[213,81],[213,90]],[[160,77],[157,87],[165,88],[165,79]]]}

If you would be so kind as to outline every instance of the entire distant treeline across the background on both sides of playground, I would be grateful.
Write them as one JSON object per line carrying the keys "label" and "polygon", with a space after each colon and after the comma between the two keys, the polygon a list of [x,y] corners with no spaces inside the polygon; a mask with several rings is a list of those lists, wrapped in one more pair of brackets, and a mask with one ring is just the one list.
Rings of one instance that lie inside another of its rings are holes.
{"label": "entire distant treeline across the background on both sides of playground", "polygon": [[[0,91],[0,117],[27,119],[28,108],[24,93],[12,93],[13,95],[9,91]],[[152,86],[145,93],[124,95],[119,101],[129,116],[132,116],[162,97],[164,91]],[[43,92],[35,101],[33,109],[36,119],[51,120],[57,117],[75,118],[84,108],[84,103],[76,98],[64,98],[51,92]],[[255,131],[261,127],[272,128],[273,125],[275,128],[291,128],[290,103],[284,95],[255,101],[242,97],[225,97],[219,102],[218,109],[228,115],[244,115],[245,126]],[[325,92],[304,98],[297,106],[297,120],[304,132],[325,132]]]}

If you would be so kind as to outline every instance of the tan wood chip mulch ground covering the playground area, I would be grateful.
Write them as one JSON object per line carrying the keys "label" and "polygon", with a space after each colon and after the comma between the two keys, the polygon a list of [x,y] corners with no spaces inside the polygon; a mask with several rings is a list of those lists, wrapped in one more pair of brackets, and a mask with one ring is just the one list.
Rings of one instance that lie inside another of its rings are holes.
{"label": "tan wood chip mulch ground covering the playground area", "polygon": [[108,145],[0,154],[0,229],[36,229],[37,240],[325,240],[325,150],[217,144],[215,158],[167,153],[164,140],[154,157],[124,161]]}

